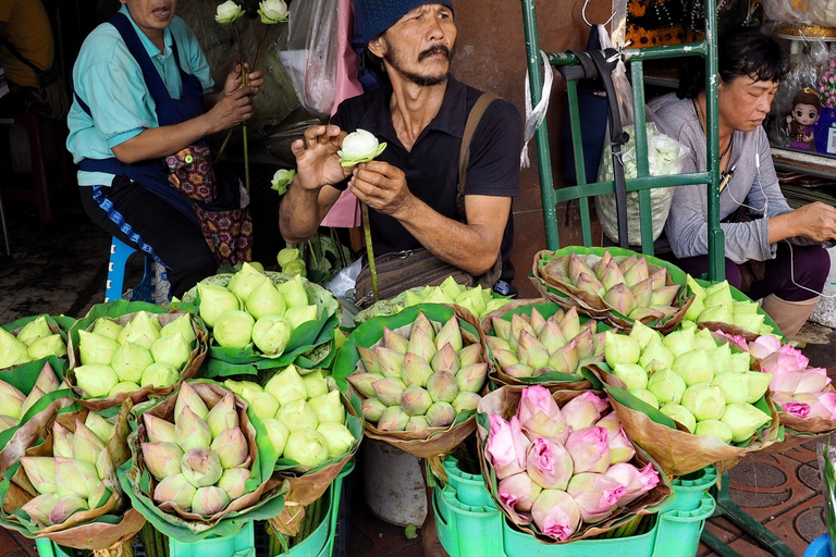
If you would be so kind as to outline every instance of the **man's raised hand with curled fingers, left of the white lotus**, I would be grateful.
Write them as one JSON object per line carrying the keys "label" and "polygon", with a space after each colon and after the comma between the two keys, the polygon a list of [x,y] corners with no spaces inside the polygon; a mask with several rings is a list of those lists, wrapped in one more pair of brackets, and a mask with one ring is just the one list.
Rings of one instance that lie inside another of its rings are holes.
{"label": "man's raised hand with curled fingers, left of the white lotus", "polygon": [[303,139],[291,145],[296,157],[296,183],[303,189],[319,189],[324,185],[337,184],[348,177],[352,169],[340,165],[336,151],[348,135],[334,125],[311,126]]}

